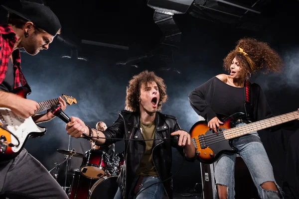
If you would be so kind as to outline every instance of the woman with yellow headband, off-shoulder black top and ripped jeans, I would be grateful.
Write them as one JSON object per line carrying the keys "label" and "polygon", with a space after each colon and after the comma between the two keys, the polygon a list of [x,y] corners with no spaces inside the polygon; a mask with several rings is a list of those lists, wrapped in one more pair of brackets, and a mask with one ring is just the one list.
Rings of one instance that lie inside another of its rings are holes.
{"label": "woman with yellow headband, off-shoulder black top and ripped jeans", "polygon": [[[194,89],[188,96],[195,112],[206,119],[217,133],[223,124],[220,119],[236,112],[246,112],[250,121],[272,116],[265,95],[258,84],[249,83],[251,74],[264,70],[279,72],[281,57],[267,43],[252,38],[240,39],[225,58],[223,67],[229,75],[220,74]],[[245,85],[251,87],[251,105],[245,105]],[[244,125],[244,122],[237,124]],[[272,165],[258,133],[252,132],[232,140],[238,154],[246,163],[261,199],[283,198],[274,179]],[[217,195],[220,199],[234,199],[234,168],[236,154],[222,154],[214,163]]]}

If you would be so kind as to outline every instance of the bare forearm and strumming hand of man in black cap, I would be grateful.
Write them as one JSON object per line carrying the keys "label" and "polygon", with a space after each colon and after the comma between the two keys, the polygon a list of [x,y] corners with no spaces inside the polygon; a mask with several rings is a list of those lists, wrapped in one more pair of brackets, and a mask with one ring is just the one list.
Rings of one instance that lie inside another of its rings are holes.
{"label": "bare forearm and strumming hand of man in black cap", "polygon": [[36,101],[0,91],[0,107],[9,108],[16,115],[25,119],[33,115],[39,105]]}

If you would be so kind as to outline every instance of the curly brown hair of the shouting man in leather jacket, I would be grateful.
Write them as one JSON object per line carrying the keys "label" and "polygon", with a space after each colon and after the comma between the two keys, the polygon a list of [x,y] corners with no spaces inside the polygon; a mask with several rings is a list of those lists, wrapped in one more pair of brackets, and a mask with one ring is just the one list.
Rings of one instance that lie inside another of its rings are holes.
{"label": "curly brown hair of the shouting man in leather jacket", "polygon": [[162,103],[167,100],[166,85],[164,80],[154,74],[154,72],[143,71],[133,76],[129,81],[129,88],[126,96],[126,109],[131,111],[139,111],[140,89],[143,84],[155,82],[159,89],[160,100],[158,101],[158,110],[161,109]]}

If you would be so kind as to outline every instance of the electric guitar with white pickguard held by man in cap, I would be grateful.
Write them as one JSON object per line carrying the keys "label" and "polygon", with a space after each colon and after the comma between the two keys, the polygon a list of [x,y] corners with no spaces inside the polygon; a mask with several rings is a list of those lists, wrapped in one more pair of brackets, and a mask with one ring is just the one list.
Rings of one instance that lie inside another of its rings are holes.
{"label": "electric guitar with white pickguard held by man in cap", "polygon": [[[26,98],[30,90],[26,87],[19,87],[12,93]],[[73,97],[62,95],[62,99],[69,105],[77,103]],[[36,113],[58,105],[58,99],[38,102],[39,109]],[[9,108],[0,107],[0,161],[9,160],[18,155],[28,138],[36,138],[46,133],[46,128],[36,125],[32,117],[23,119],[14,114]]]}

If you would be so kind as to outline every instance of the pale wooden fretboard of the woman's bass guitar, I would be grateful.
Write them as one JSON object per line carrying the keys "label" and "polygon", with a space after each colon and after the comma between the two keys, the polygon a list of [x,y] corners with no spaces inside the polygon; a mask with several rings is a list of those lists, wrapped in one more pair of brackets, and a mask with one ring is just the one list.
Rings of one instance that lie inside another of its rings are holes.
{"label": "pale wooden fretboard of the woman's bass guitar", "polygon": [[295,119],[299,119],[299,111],[294,111],[290,113],[286,113],[283,115],[271,117],[269,119],[264,119],[261,121],[256,121],[250,124],[246,124],[243,126],[238,126],[235,128],[227,129],[223,131],[225,139],[232,139],[235,137],[239,137],[248,133],[252,133],[254,131],[262,130],[265,128],[269,128],[271,126],[275,126],[278,124],[282,124],[288,121],[292,121]]}

